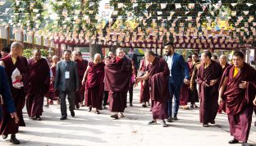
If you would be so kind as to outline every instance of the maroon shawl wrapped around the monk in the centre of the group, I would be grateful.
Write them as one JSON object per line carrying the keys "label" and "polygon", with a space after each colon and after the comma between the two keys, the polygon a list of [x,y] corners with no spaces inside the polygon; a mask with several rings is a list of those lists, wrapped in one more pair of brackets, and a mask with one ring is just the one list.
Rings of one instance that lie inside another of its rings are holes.
{"label": "maroon shawl wrapped around the monk in the centre of the group", "polygon": [[131,62],[123,57],[117,62],[113,59],[105,66],[105,91],[127,92],[131,86]]}

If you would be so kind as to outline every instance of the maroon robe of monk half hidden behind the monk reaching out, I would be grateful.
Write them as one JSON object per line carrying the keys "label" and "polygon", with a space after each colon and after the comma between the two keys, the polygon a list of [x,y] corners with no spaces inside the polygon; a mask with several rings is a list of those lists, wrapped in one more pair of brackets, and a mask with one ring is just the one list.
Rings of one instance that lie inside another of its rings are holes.
{"label": "maroon robe of monk half hidden behind the monk reaching out", "polygon": [[[143,60],[141,63],[141,71],[145,72],[147,68],[145,60]],[[139,103],[149,102],[149,99],[149,80],[141,81]]]}

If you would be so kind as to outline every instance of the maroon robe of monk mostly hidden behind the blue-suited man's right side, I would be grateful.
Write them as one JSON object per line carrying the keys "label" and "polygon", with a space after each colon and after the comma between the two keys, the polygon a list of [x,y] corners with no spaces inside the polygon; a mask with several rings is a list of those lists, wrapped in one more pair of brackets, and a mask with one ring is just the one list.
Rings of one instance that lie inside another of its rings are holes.
{"label": "maroon robe of monk mostly hidden behind the blue-suited man's right side", "polygon": [[[186,63],[188,68],[190,69],[189,63]],[[191,73],[191,71],[190,71]],[[185,106],[189,102],[190,98],[190,84],[182,84],[181,85],[181,96],[180,96],[180,105]]]}

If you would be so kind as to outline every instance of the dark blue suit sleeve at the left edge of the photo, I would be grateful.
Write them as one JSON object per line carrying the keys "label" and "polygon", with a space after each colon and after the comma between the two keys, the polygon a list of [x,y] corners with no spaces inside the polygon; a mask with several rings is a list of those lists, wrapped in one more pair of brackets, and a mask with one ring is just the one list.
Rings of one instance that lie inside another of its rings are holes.
{"label": "dark blue suit sleeve at the left edge of the photo", "polygon": [[7,75],[6,72],[4,71],[4,69],[1,67],[0,68],[1,75],[0,75],[0,94],[2,94],[2,100],[3,103],[6,105],[7,107],[7,111],[8,112],[16,112],[15,106],[13,104],[13,100],[11,98],[11,89],[9,87],[8,81],[7,81]]}

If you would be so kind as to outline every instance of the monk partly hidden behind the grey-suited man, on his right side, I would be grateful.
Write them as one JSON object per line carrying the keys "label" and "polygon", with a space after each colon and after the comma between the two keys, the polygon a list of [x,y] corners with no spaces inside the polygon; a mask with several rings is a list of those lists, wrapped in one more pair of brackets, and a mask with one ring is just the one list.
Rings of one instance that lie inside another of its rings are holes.
{"label": "monk partly hidden behind the grey-suited man, on his right side", "polygon": [[[79,75],[79,91],[75,92],[75,107],[76,109],[80,108],[80,103],[83,102],[84,98],[83,96],[85,96],[85,89],[82,89],[82,80],[83,77],[85,75],[85,71],[88,65],[88,62],[85,64],[82,60],[80,60],[80,58],[82,57],[81,52],[77,52],[77,51],[73,51],[72,52],[72,60],[74,62],[76,62],[77,64],[77,70],[78,70],[78,75]],[[84,87],[85,88],[85,87]]]}

